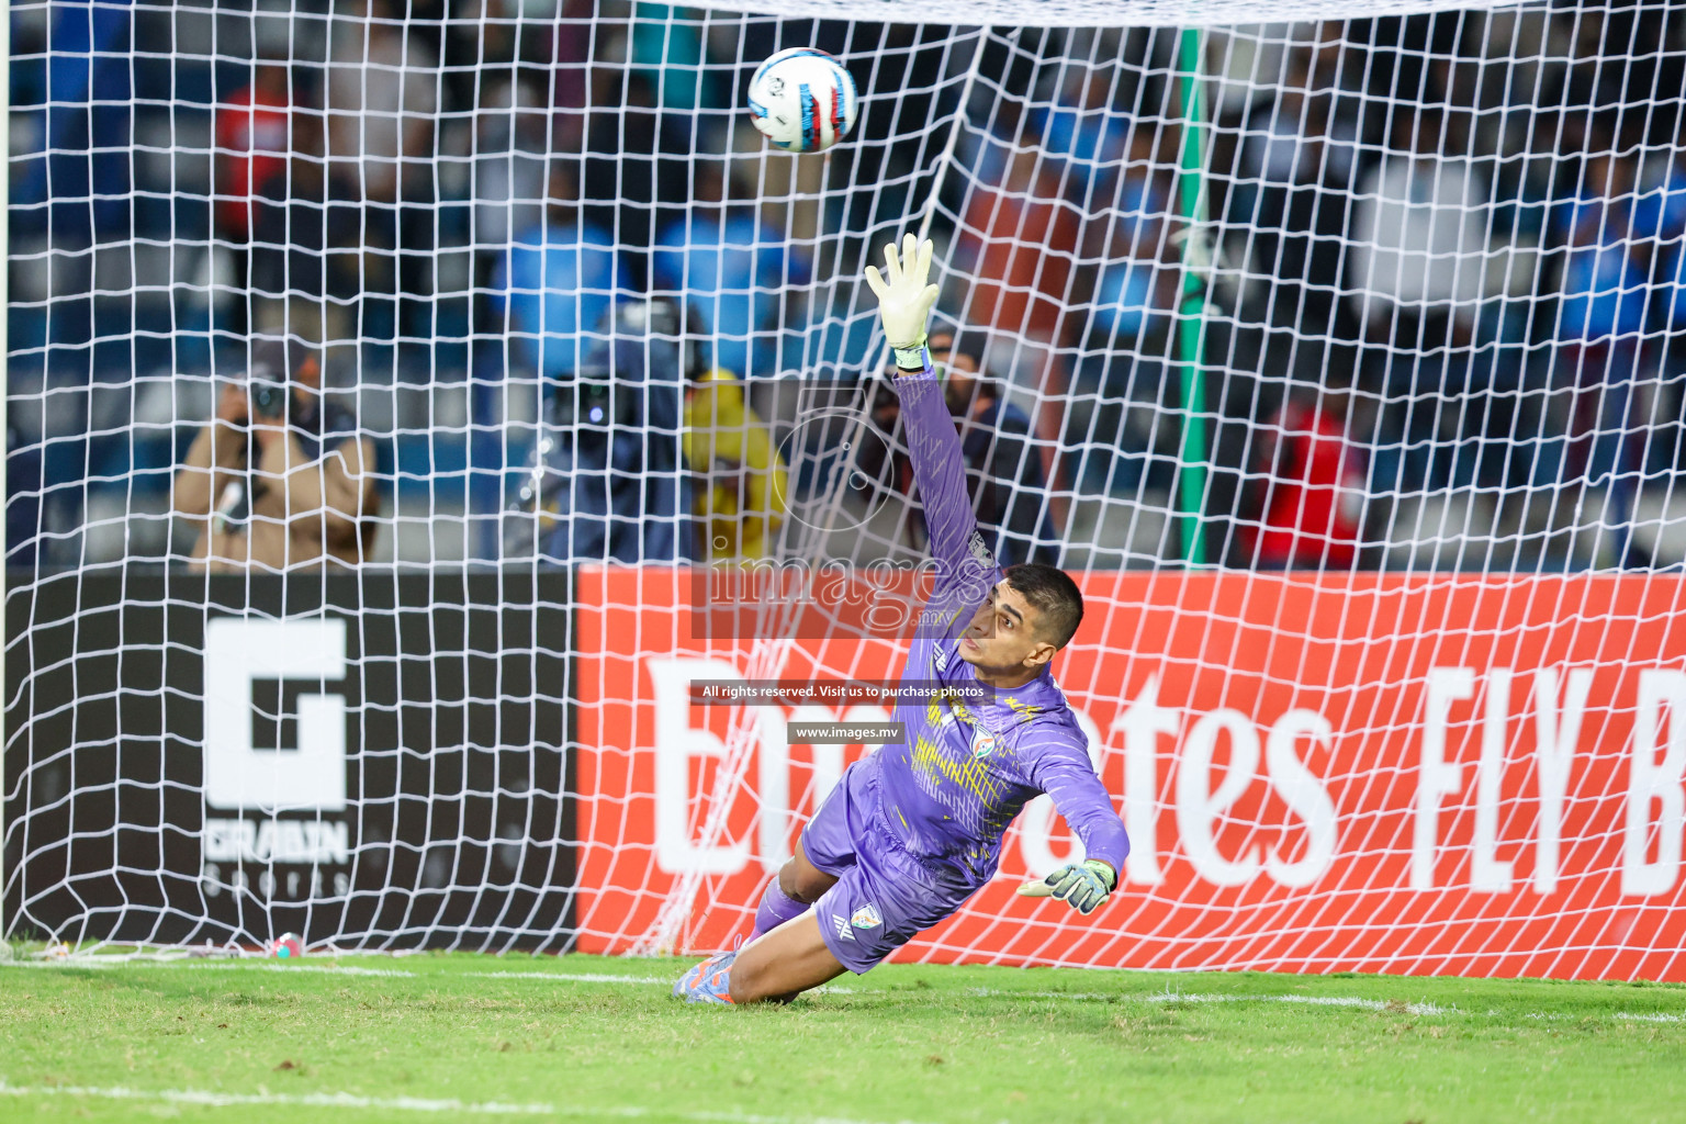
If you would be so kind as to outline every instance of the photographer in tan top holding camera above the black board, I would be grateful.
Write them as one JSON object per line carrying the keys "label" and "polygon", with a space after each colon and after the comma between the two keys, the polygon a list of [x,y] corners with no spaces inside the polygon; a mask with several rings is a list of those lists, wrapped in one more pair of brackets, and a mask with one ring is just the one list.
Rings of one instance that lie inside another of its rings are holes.
{"label": "photographer in tan top holding camera above the black board", "polygon": [[322,364],[298,340],[251,342],[175,474],[172,506],[199,524],[189,559],[212,571],[356,566],[374,522],[374,447],[322,398]]}

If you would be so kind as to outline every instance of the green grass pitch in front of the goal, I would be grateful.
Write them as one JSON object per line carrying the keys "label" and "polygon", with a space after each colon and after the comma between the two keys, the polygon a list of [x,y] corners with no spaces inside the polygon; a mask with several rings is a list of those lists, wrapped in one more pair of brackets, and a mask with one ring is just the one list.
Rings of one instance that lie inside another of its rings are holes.
{"label": "green grass pitch in front of the goal", "polygon": [[1686,1121],[1686,988],[678,961],[0,964],[0,1121]]}

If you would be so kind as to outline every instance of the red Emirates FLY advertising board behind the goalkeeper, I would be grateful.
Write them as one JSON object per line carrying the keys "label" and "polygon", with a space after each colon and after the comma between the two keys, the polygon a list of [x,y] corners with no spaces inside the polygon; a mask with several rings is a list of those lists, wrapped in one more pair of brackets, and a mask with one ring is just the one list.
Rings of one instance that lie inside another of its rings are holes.
{"label": "red Emirates FLY advertising board behind the goalkeeper", "polygon": [[[1673,576],[1091,573],[1055,674],[1130,827],[1082,918],[1045,802],[899,955],[1153,969],[1686,979],[1686,629]],[[688,571],[580,585],[580,947],[711,950],[863,747],[693,679],[894,677],[858,634],[695,639]],[[706,632],[706,630],[705,630]]]}

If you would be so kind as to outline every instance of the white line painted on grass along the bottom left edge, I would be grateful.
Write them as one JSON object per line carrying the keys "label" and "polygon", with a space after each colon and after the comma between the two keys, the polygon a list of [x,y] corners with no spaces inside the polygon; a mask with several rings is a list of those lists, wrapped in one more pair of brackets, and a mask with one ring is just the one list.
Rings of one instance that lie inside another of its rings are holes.
{"label": "white line painted on grass along the bottom left edge", "polygon": [[[507,1100],[455,1100],[428,1097],[359,1097],[349,1092],[315,1094],[234,1094],[207,1089],[99,1089],[91,1085],[12,1085],[0,1079],[0,1095],[8,1097],[98,1097],[101,1100],[160,1100],[216,1109],[234,1105],[293,1105],[307,1109],[371,1109],[379,1112],[445,1112],[450,1116],[572,1116],[619,1121],[649,1117],[698,1121],[698,1124],[877,1124],[836,1116],[759,1116],[754,1112],[718,1112],[686,1109],[647,1109],[639,1105],[523,1104]],[[912,1124],[897,1121],[895,1124]]]}

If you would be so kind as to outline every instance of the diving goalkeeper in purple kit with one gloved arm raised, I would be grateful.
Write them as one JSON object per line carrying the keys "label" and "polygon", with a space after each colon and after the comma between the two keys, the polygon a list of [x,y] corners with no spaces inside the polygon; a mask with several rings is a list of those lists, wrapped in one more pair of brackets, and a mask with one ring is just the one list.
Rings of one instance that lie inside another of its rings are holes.
{"label": "diving goalkeeper in purple kit with one gloved arm raised", "polygon": [[[843,972],[867,972],[958,910],[995,875],[1001,836],[1049,794],[1084,861],[1034,890],[1093,913],[1118,885],[1130,839],[1087,740],[1054,682],[1052,659],[1082,620],[1064,571],[1025,563],[1001,573],[978,533],[954,418],[926,349],[937,300],[932,243],[912,234],[867,268],[924,502],[936,585],[904,681],[993,688],[897,703],[902,745],[851,765],[814,812],[755,910],[750,940],[691,967],[673,994],[691,1003],[786,1001]],[[1028,886],[1027,886],[1028,890]]]}

